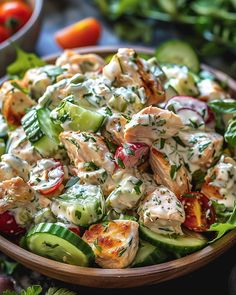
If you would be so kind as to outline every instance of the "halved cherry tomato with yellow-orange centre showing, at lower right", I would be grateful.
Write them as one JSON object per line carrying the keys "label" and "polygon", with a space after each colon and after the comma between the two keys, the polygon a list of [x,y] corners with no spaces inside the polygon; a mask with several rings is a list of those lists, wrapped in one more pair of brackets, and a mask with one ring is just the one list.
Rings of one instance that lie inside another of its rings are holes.
{"label": "halved cherry tomato with yellow-orange centre showing, at lower right", "polygon": [[187,228],[202,232],[209,229],[216,220],[215,210],[211,201],[200,192],[190,192],[180,197],[184,206]]}

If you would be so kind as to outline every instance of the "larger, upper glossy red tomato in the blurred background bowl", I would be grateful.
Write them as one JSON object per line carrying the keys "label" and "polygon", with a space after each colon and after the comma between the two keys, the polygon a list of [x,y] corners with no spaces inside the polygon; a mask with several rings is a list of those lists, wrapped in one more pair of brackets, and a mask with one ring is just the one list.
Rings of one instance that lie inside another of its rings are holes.
{"label": "larger, upper glossy red tomato in the blurred background bowl", "polygon": [[21,1],[4,2],[0,5],[0,21],[12,32],[23,27],[31,15],[31,7]]}

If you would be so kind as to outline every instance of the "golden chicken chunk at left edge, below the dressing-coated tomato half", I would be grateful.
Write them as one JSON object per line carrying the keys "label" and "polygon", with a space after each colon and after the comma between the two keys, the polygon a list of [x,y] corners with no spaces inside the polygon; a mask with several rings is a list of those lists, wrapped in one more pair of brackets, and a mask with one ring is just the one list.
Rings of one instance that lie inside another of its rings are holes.
{"label": "golden chicken chunk at left edge, below the dressing-coated tomato half", "polygon": [[21,177],[0,182],[0,214],[17,205],[24,206],[33,199],[33,190]]}

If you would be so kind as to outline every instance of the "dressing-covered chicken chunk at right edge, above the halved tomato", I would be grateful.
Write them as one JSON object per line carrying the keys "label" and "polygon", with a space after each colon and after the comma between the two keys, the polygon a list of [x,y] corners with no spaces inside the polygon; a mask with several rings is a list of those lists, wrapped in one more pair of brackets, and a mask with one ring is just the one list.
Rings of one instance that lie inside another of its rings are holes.
{"label": "dressing-covered chicken chunk at right edge, above the halved tomato", "polygon": [[236,201],[236,162],[221,156],[219,162],[208,170],[201,192],[232,210]]}

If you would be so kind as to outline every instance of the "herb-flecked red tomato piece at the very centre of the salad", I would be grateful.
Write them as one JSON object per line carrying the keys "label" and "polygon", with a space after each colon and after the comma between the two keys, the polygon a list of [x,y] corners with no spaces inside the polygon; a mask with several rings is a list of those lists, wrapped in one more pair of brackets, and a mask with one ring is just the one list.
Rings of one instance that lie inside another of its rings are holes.
{"label": "herb-flecked red tomato piece at the very centre of the salad", "polygon": [[115,161],[120,168],[131,168],[141,164],[146,158],[149,146],[145,143],[125,143],[115,153]]}

